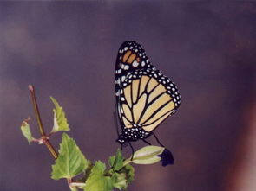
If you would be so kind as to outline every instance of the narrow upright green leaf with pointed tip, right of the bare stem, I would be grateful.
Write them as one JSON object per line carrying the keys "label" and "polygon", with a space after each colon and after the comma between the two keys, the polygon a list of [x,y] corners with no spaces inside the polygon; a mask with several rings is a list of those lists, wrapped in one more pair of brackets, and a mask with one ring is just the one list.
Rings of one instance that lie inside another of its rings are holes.
{"label": "narrow upright green leaf with pointed tip, right of the bare stem", "polygon": [[69,124],[67,118],[65,117],[65,112],[63,111],[62,107],[58,104],[56,99],[54,99],[53,97],[50,97],[50,99],[55,105],[55,109],[53,109],[54,125],[51,132],[69,131]]}

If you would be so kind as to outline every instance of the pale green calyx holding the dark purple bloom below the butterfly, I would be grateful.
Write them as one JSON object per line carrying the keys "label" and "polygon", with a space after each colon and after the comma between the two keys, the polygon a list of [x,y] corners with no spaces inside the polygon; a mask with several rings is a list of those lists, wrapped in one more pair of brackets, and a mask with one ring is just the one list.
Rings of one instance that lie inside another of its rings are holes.
{"label": "pale green calyx holding the dark purple bloom below the butterfly", "polygon": [[[133,162],[135,164],[153,164],[159,162],[161,160],[162,151],[164,150],[163,147],[158,146],[146,146],[141,148],[141,150],[137,150],[134,154],[134,158],[131,161],[131,157],[126,162]],[[124,163],[126,163],[124,162]]]}

